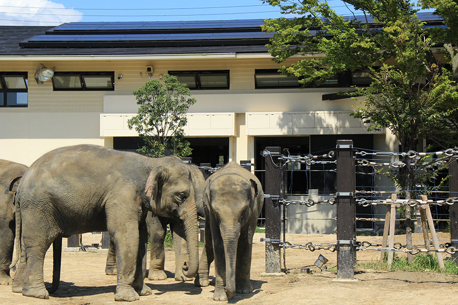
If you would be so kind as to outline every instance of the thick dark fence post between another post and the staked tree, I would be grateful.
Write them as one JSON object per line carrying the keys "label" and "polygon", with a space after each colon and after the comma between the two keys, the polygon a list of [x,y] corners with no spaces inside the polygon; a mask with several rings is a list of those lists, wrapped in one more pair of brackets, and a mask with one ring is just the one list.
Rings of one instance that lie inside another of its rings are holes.
{"label": "thick dark fence post between another post and the staked tree", "polygon": [[354,280],[355,159],[352,140],[337,140],[337,281]]}

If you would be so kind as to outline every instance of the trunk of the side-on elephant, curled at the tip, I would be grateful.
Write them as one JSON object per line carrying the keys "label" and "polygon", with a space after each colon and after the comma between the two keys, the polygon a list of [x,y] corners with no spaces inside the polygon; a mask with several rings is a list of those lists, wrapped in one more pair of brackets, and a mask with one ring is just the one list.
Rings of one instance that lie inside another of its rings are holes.
{"label": "trunk of the side-on elephant, curled at the tip", "polygon": [[183,266],[183,275],[187,278],[195,277],[199,268],[199,248],[198,248],[198,224],[195,201],[188,200],[183,206],[184,215],[180,217],[183,220],[188,246],[189,265]]}

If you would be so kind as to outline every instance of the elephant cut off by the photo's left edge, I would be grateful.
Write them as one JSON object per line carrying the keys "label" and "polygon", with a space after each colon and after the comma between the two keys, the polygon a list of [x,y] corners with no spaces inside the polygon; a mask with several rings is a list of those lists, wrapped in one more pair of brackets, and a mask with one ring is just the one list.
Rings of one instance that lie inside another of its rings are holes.
{"label": "elephant cut off by the photo's left edge", "polygon": [[0,160],[0,285],[12,285],[10,264],[15,231],[14,196],[27,166]]}

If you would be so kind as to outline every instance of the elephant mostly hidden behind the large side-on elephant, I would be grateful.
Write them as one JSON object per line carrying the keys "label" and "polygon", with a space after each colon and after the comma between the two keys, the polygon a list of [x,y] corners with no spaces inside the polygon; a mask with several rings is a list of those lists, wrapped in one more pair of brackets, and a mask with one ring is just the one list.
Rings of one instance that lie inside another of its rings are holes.
{"label": "elephant mostly hidden behind the large side-on elephant", "polygon": [[[189,165],[191,171],[191,181],[194,188],[195,206],[197,215],[205,218],[203,193],[205,185],[205,177],[195,165]],[[148,234],[150,235],[150,268],[148,279],[152,281],[165,280],[167,278],[164,270],[165,249],[164,240],[167,232],[167,225],[170,225],[170,231],[173,235],[174,250],[175,250],[175,280],[189,281],[183,269],[188,264],[189,256],[187,251],[187,242],[184,230],[184,223],[178,217],[167,218],[153,215],[148,212],[146,218]],[[116,251],[115,243],[110,239],[108,247],[108,255],[106,258],[105,273],[107,275],[116,275]]]}

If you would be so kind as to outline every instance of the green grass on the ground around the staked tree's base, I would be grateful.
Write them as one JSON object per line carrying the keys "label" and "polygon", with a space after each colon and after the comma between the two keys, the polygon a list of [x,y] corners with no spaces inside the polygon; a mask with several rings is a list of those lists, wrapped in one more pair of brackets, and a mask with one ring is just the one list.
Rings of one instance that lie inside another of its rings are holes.
{"label": "green grass on the ground around the staked tree's base", "polygon": [[425,271],[425,272],[440,272],[450,275],[458,275],[458,265],[453,260],[444,260],[445,268],[440,269],[437,257],[434,254],[417,254],[414,261],[409,263],[407,258],[394,255],[391,269],[388,268],[387,255],[381,261],[371,261],[358,264],[361,268],[375,270],[402,270],[402,271]]}

